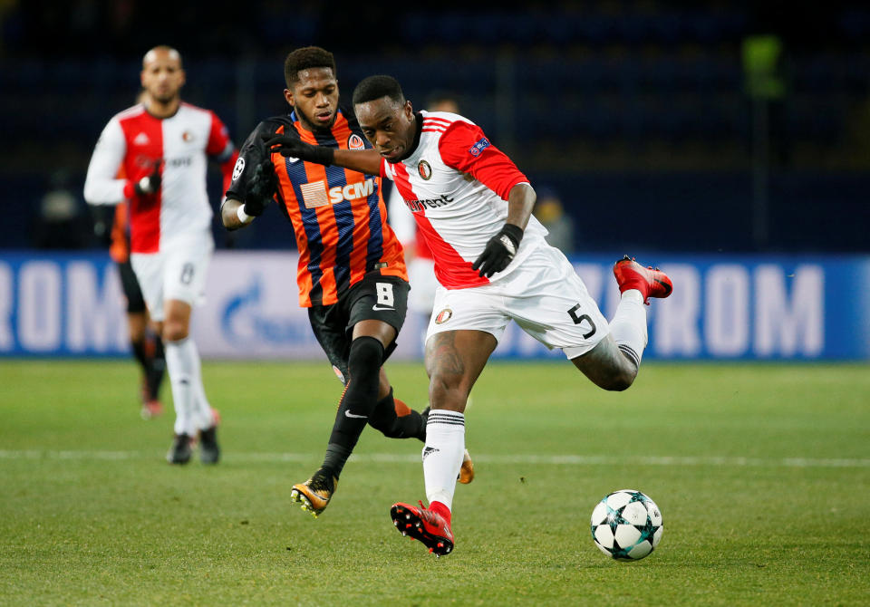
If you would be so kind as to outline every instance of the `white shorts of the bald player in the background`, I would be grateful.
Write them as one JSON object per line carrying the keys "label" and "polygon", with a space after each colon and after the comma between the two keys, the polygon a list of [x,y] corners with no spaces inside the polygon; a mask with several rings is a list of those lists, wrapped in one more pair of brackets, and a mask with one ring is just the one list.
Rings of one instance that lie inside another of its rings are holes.
{"label": "white shorts of the bald player in the background", "polygon": [[152,320],[164,319],[164,302],[176,299],[198,305],[205,301],[208,263],[215,250],[210,232],[173,238],[158,253],[132,253],[130,263]]}

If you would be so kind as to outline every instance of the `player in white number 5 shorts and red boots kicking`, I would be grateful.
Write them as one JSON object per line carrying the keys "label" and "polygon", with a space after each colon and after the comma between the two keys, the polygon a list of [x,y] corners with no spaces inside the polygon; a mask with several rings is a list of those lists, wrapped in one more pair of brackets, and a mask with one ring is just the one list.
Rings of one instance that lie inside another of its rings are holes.
{"label": "player in white number 5 shorts and red boots kicking", "polygon": [[429,507],[391,507],[402,535],[441,555],[450,530],[456,475],[465,442],[465,406],[507,323],[519,326],[604,390],[625,390],[646,346],[650,297],[671,280],[627,256],[614,275],[622,298],[610,323],[561,251],[546,244],[532,217],[535,190],[477,125],[458,114],[414,112],[399,82],[371,76],[353,107],[373,149],[333,150],[275,137],[282,154],[391,178],[435,257],[440,287],[426,341],[431,411],[422,451]]}

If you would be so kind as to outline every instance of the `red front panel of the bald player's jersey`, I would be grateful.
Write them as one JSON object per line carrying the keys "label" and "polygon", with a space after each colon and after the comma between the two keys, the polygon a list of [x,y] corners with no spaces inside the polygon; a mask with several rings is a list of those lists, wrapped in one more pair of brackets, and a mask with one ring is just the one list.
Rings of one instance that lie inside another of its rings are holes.
{"label": "red front panel of the bald player's jersey", "polygon": [[[127,140],[124,171],[134,183],[151,174],[154,163],[163,158],[163,121],[147,111],[121,119]],[[131,253],[160,251],[160,188],[150,196],[134,196],[130,201]]]}

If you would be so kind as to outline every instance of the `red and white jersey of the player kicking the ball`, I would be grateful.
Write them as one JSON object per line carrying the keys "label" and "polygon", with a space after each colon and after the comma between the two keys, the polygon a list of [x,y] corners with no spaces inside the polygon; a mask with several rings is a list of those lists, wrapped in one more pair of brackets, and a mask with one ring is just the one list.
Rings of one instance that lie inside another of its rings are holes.
{"label": "red and white jersey of the player kicking the ball", "polygon": [[496,281],[536,246],[546,246],[546,228],[529,217],[517,255],[504,272],[484,278],[471,269],[505,225],[510,189],[528,179],[470,120],[445,111],[421,111],[420,117],[416,149],[401,162],[382,159],[381,175],[393,180],[411,209],[440,284],[463,289]]}

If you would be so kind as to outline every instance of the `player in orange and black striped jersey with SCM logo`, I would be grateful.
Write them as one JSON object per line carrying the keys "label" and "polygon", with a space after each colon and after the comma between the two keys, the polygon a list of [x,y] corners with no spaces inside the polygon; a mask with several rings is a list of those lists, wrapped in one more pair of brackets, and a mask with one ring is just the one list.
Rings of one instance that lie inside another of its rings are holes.
{"label": "player in orange and black striped jersey with SCM logo", "polygon": [[229,229],[246,226],[276,198],[294,227],[299,305],[308,308],[314,335],[344,384],[324,463],[291,492],[317,516],[366,423],[389,438],[420,440],[426,423],[393,397],[382,369],[404,323],[408,280],[386,222],[381,178],[284,159],[264,143],[282,133],[329,149],[366,148],[353,112],[338,104],[333,54],[316,46],[295,50],[285,60],[285,80],[292,110],[263,120],[247,138],[221,216]]}

